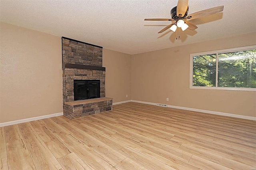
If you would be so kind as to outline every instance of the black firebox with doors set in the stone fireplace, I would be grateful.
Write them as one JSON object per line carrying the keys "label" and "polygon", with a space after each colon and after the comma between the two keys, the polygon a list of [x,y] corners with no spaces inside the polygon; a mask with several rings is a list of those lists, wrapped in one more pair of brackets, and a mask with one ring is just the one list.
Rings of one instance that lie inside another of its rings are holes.
{"label": "black firebox with doors set in the stone fireplace", "polygon": [[100,80],[74,80],[74,100],[100,98]]}

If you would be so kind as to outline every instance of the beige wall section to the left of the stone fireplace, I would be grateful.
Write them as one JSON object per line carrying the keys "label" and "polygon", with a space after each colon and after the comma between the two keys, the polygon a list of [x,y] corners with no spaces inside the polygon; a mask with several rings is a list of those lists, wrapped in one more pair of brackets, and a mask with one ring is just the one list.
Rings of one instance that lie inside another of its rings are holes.
{"label": "beige wall section to the left of the stone fireplace", "polygon": [[0,123],[63,112],[61,38],[0,23]]}

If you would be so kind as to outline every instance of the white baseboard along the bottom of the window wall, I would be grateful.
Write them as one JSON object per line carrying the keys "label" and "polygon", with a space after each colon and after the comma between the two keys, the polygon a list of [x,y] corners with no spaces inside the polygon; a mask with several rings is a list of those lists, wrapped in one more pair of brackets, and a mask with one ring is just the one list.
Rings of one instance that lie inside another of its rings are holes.
{"label": "white baseboard along the bottom of the window wall", "polygon": [[[156,105],[157,104],[157,103],[150,103],[150,102],[136,101],[136,100],[132,100],[132,102],[143,103],[143,104],[148,104],[148,105]],[[175,108],[175,109],[183,109],[183,110],[188,110],[188,111],[202,112],[202,113],[210,113],[210,114],[213,114],[213,115],[222,115],[222,116],[228,116],[228,117],[236,117],[236,118],[248,119],[248,120],[256,121],[256,117],[251,117],[251,116],[235,115],[235,114],[231,114],[231,113],[207,111],[207,110],[202,110],[202,109],[194,109],[194,108],[189,108],[189,107],[172,106],[172,105],[167,105],[167,107],[171,107],[171,108]]]}

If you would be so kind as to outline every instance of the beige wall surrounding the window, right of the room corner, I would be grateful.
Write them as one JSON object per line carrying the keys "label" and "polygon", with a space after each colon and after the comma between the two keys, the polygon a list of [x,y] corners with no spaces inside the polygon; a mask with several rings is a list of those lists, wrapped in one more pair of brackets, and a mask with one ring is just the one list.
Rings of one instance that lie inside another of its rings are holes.
{"label": "beige wall surrounding the window, right of the room corner", "polygon": [[255,91],[189,89],[190,53],[255,44],[252,33],[132,55],[132,100],[256,117]]}

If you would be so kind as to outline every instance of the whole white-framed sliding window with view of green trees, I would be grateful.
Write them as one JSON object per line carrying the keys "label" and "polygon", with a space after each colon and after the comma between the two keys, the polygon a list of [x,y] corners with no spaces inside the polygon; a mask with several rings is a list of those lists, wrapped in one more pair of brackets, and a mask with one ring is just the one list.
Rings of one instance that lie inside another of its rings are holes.
{"label": "whole white-framed sliding window with view of green trees", "polygon": [[256,45],[190,54],[190,88],[256,91]]}

